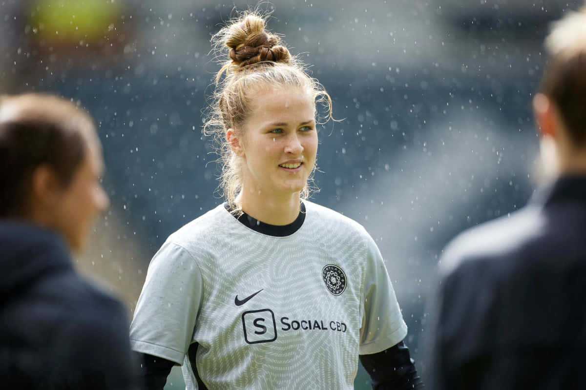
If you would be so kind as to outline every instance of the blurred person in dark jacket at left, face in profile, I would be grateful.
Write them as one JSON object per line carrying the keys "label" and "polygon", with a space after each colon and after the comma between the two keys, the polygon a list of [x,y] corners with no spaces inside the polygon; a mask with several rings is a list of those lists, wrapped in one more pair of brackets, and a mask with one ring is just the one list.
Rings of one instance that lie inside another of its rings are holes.
{"label": "blurred person in dark jacket at left, face in profile", "polygon": [[0,97],[0,387],[131,389],[125,309],[76,273],[108,206],[90,116],[50,95]]}

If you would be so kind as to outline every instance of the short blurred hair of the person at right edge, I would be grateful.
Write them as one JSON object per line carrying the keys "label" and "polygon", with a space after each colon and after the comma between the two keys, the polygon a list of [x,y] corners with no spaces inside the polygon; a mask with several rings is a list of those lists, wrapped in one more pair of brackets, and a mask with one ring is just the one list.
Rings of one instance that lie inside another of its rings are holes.
{"label": "short blurred hair of the person at right edge", "polygon": [[568,136],[586,144],[586,6],[554,23],[539,92],[556,106]]}

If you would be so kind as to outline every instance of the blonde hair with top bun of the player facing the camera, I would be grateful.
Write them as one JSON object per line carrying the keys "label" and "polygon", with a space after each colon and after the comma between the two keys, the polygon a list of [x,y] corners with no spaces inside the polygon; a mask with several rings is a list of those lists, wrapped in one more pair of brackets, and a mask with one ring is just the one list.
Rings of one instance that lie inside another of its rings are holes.
{"label": "blonde hair with top bun of the player facing the camera", "polygon": [[[332,100],[328,93],[307,74],[304,64],[291,56],[280,37],[266,29],[266,19],[267,15],[258,11],[244,12],[212,37],[213,51],[222,68],[216,74],[216,88],[206,113],[204,134],[212,136],[216,143],[217,161],[222,165],[219,190],[233,210],[240,210],[236,197],[242,188],[241,158],[231,150],[226,132],[233,129],[241,136],[239,132],[258,90],[267,85],[302,88],[314,98],[315,104],[325,107],[325,121],[332,117]],[[314,171],[315,166],[308,182]],[[306,183],[301,198],[306,199],[309,192]]]}

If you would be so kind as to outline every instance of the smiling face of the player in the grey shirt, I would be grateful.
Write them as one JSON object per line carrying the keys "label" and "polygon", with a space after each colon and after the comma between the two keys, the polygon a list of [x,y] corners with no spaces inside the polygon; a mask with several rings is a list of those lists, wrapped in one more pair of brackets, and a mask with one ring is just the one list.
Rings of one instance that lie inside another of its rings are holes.
{"label": "smiling face of the player in the grey shirt", "polygon": [[301,191],[318,151],[315,103],[302,88],[263,88],[241,129],[243,190],[270,196]]}

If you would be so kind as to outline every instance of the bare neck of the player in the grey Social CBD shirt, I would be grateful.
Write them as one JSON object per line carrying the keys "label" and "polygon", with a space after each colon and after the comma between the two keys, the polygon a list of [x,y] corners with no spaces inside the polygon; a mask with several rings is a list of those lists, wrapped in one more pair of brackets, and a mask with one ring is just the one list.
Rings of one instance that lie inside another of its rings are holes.
{"label": "bare neck of the player in the grey Social CBD shirt", "polygon": [[288,225],[299,215],[299,192],[277,197],[243,188],[236,201],[244,213],[265,224]]}

